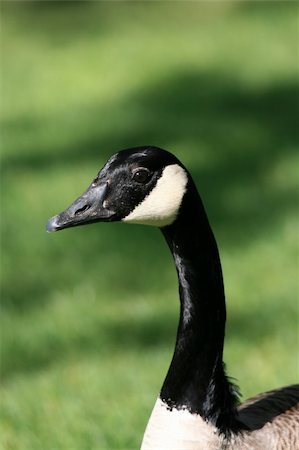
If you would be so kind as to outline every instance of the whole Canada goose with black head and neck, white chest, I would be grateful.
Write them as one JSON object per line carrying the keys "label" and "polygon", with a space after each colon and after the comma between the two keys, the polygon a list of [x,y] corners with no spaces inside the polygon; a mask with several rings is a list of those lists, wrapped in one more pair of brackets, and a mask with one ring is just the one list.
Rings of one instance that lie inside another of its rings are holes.
{"label": "whole Canada goose with black head and neck, white chest", "polygon": [[226,312],[217,244],[181,162],[156,147],[118,152],[47,230],[101,221],[159,227],[178,274],[174,355],[141,449],[299,449],[299,385],[237,406],[238,391],[222,359]]}

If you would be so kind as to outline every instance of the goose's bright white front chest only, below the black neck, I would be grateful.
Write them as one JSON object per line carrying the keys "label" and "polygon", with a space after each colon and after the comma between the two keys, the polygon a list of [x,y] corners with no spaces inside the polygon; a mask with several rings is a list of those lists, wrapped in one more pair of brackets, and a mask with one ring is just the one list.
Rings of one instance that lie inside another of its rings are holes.
{"label": "goose's bright white front chest only, below the black neck", "polygon": [[219,450],[217,429],[187,410],[169,410],[158,398],[141,450]]}

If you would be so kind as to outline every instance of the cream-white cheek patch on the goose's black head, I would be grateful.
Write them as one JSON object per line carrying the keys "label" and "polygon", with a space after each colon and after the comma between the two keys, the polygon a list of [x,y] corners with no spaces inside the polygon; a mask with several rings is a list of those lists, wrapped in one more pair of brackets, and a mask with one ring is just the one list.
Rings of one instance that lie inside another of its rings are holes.
{"label": "cream-white cheek patch on the goose's black head", "polygon": [[179,212],[187,182],[188,175],[181,166],[166,166],[153,190],[122,220],[156,227],[170,225]]}

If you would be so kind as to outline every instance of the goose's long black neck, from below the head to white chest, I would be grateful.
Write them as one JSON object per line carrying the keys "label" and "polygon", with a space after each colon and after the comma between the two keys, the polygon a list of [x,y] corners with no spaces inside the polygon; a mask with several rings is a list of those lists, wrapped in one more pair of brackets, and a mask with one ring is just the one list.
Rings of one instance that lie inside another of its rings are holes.
{"label": "goose's long black neck, from below the head to white chest", "polygon": [[179,280],[180,321],[161,398],[221,431],[234,428],[237,393],[224,373],[225,296],[217,244],[192,181],[176,221],[162,233]]}

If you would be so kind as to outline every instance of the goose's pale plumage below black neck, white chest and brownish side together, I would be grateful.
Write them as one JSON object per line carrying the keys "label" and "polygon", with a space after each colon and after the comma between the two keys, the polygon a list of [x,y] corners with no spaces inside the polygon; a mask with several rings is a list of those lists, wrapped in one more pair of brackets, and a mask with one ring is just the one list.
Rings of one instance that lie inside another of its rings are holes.
{"label": "goose's pale plumage below black neck, white chest and brownish side together", "polygon": [[[287,432],[283,430],[287,435]],[[289,446],[282,430],[273,433],[269,422],[263,428],[232,435],[226,440],[217,428],[186,409],[169,410],[158,398],[147,424],[141,450],[295,450],[296,437]]]}

